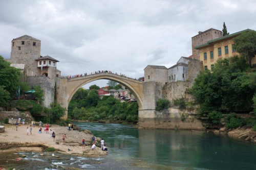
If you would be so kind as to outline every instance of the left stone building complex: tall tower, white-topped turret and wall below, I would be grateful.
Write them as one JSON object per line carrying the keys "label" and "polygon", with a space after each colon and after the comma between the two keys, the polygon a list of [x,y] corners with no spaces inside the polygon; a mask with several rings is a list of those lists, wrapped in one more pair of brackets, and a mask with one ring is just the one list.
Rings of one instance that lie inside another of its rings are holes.
{"label": "left stone building complex: tall tower, white-topped turret and wall below", "polygon": [[58,60],[48,55],[42,57],[40,53],[41,41],[24,35],[12,40],[11,57],[6,61],[23,72],[30,87],[39,85],[44,90],[42,104],[50,107],[54,101],[56,77],[61,71],[56,69]]}

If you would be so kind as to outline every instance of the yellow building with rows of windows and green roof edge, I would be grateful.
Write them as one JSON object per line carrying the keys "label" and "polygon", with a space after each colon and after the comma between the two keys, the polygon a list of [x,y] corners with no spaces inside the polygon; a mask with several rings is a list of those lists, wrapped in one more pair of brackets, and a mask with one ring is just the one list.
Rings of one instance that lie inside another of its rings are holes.
{"label": "yellow building with rows of windows and green roof edge", "polygon": [[[250,29],[226,35],[214,40],[207,41],[205,44],[195,46],[199,50],[200,60],[203,61],[204,69],[212,70],[218,59],[228,58],[234,55],[239,55],[234,48],[232,39],[241,35],[244,32],[252,31]],[[256,66],[256,57],[251,60],[251,66]]]}

